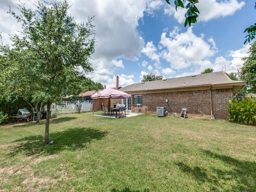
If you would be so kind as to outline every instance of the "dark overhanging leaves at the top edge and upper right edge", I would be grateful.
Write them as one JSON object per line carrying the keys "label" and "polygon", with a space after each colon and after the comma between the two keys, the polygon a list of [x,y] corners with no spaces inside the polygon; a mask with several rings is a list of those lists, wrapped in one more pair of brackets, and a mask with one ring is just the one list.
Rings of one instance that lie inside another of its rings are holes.
{"label": "dark overhanging leaves at the top edge and upper right edge", "polygon": [[[168,4],[171,4],[170,3],[170,0],[166,0],[166,2]],[[187,2],[186,6],[184,6],[184,2]],[[196,3],[198,3],[199,1],[198,0],[174,0],[174,5],[176,6],[176,10],[177,10],[177,7],[181,7],[181,8],[186,8],[187,9],[187,12],[185,14],[185,24],[184,26],[186,27],[187,25],[191,26],[191,23],[196,23],[196,18],[198,17],[198,13],[199,10],[198,8],[196,7]],[[255,3],[255,7],[254,9],[256,8],[256,3]],[[244,41],[244,44],[246,44],[246,42],[249,42],[253,39],[255,39],[255,35],[256,35],[256,23],[254,23],[254,25],[246,28],[244,30],[244,32],[247,32],[248,35],[245,37],[246,40]]]}

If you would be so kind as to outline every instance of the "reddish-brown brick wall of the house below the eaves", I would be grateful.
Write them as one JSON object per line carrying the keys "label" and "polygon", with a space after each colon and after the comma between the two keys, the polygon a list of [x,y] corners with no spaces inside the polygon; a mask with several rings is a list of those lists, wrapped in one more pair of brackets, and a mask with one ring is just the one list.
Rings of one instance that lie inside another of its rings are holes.
{"label": "reddish-brown brick wall of the house below the eaves", "polygon": [[[228,100],[232,98],[232,88],[212,90],[214,118],[228,118],[226,108]],[[136,105],[132,105],[132,112],[135,107]],[[210,117],[210,90],[143,94],[142,113],[156,114],[157,107],[166,107],[169,114],[172,112],[180,115],[182,108],[187,108],[188,116]]]}

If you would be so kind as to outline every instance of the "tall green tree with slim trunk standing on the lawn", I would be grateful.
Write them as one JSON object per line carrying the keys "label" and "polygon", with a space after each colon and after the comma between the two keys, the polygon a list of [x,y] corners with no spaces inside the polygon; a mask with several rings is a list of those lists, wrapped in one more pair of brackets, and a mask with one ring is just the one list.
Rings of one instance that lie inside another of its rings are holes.
{"label": "tall green tree with slim trunk standing on the lawn", "polygon": [[[50,105],[68,91],[76,90],[82,74],[93,71],[90,64],[95,43],[93,18],[88,18],[86,24],[74,22],[68,14],[68,0],[38,0],[36,10],[26,8],[25,4],[18,4],[17,8],[20,14],[11,8],[9,13],[22,23],[21,36],[11,36],[13,48],[2,46],[1,51],[13,61],[10,71],[15,73],[18,69],[17,75],[22,75],[20,79],[24,81],[17,82],[20,89],[33,86],[28,89],[32,91],[30,95],[46,102],[44,142],[48,144]],[[34,84],[28,84],[31,82]],[[14,87],[17,86],[14,84]]]}

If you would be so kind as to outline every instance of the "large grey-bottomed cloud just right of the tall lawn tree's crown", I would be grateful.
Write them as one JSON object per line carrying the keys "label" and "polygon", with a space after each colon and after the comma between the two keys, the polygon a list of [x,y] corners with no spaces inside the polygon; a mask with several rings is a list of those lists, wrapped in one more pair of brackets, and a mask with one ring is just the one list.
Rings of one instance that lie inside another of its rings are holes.
{"label": "large grey-bottomed cloud just right of the tall lawn tree's crown", "polygon": [[145,0],[94,0],[93,3],[90,0],[70,0],[70,4],[76,5],[70,8],[70,12],[82,22],[86,21],[87,16],[95,16],[93,24],[97,46],[94,59],[105,57],[138,60],[136,55],[140,54],[144,40],[136,28],[146,10]]}

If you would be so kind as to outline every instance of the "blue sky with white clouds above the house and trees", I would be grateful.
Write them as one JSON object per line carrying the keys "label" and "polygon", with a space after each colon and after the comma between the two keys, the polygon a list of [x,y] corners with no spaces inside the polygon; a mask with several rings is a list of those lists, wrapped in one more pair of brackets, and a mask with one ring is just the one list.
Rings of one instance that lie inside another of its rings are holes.
{"label": "blue sky with white clouds above the house and trees", "polygon": [[[0,31],[4,44],[8,34],[19,34],[20,25],[10,14],[17,0],[2,0]],[[21,0],[34,8],[33,0]],[[96,47],[87,76],[106,87],[140,82],[152,72],[164,78],[214,72],[236,72],[248,53],[244,29],[255,23],[254,0],[199,0],[198,22],[184,28],[186,10],[176,12],[165,0],[69,0],[76,22],[96,16]],[[186,4],[186,3],[185,3]]]}

